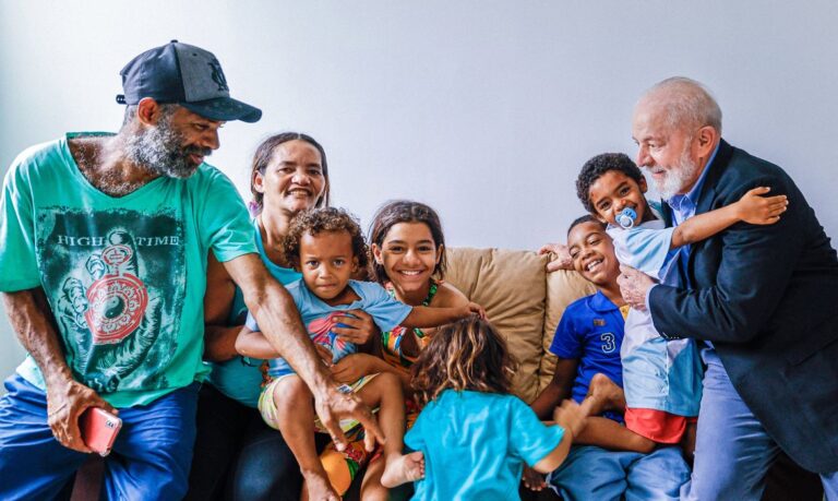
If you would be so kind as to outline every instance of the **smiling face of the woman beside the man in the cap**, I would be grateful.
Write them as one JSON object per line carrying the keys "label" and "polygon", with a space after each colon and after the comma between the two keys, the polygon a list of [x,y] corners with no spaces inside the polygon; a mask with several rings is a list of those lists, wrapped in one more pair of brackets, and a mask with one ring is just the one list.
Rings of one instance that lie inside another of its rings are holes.
{"label": "smiling face of the woman beside the man in the cap", "polygon": [[302,140],[278,145],[264,172],[253,175],[253,189],[270,210],[297,214],[313,208],[326,191],[320,152]]}

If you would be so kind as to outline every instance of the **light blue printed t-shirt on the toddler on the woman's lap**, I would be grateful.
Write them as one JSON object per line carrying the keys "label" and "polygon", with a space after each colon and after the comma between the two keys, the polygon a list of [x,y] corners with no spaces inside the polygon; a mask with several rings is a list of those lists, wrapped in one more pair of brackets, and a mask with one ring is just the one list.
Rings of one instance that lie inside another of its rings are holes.
{"label": "light blue printed t-shirt on the toddler on the woman's lap", "polygon": [[[301,279],[288,285],[288,293],[290,293],[294,302],[297,305],[297,310],[299,310],[300,317],[302,317],[302,323],[309,331],[311,339],[332,351],[333,363],[357,351],[355,344],[340,339],[332,332],[332,327],[340,326],[335,320],[336,317],[345,315],[347,310],[363,310],[372,315],[373,321],[381,331],[392,331],[412,310],[411,307],[390,297],[384,287],[376,283],[349,281],[348,287],[351,287],[360,299],[352,301],[350,305],[333,307],[314,296]],[[259,325],[250,313],[248,313],[247,325],[254,332],[259,331]],[[272,378],[290,373],[294,373],[294,369],[284,358],[271,360],[268,374]]]}

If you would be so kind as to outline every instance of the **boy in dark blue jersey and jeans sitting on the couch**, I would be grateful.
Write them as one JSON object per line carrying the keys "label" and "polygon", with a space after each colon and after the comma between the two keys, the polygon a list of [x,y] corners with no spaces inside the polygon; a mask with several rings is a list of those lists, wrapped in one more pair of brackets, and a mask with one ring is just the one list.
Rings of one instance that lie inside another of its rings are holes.
{"label": "boy in dark blue jersey and jeans sitting on the couch", "polygon": [[[678,499],[690,468],[677,448],[651,453],[649,442],[622,426],[625,397],[620,347],[627,306],[616,277],[620,264],[606,225],[592,216],[576,219],[567,232],[573,266],[597,293],[571,303],[562,315],[550,351],[559,357],[552,381],[532,403],[547,418],[565,398],[590,398],[591,416],[574,438],[567,460],[549,476],[564,499]],[[540,490],[544,480],[525,473],[525,484]]]}

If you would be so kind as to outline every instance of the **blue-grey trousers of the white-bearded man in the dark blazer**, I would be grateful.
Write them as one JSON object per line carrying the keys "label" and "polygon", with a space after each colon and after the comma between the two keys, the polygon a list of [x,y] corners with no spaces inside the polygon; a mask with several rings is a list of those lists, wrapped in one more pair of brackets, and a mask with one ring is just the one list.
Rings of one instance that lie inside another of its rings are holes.
{"label": "blue-grey trousers of the white-bearded man in the dark blazer", "polygon": [[[707,371],[695,464],[683,498],[758,500],[765,489],[765,476],[780,449],[739,396],[716,351],[707,348],[702,357]],[[789,419],[794,419],[793,413]],[[838,501],[838,473],[821,475],[821,480],[826,499]]]}

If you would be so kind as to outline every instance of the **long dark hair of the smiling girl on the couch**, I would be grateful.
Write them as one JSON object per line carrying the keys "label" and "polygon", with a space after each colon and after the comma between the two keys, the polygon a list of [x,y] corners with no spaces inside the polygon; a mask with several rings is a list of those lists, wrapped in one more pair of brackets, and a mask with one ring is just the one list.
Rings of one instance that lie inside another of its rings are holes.
{"label": "long dark hair of the smiling girl on the couch", "polygon": [[[436,275],[436,278],[444,278],[447,259],[445,258],[445,236],[442,232],[442,223],[440,223],[440,216],[436,214],[436,211],[421,202],[393,200],[382,205],[372,217],[370,244],[375,243],[381,248],[390,232],[390,228],[399,223],[423,223],[431,230],[433,244],[436,249],[442,248],[440,262],[436,263],[433,273]],[[372,274],[380,284],[387,282],[386,270],[374,260],[372,262]]]}

